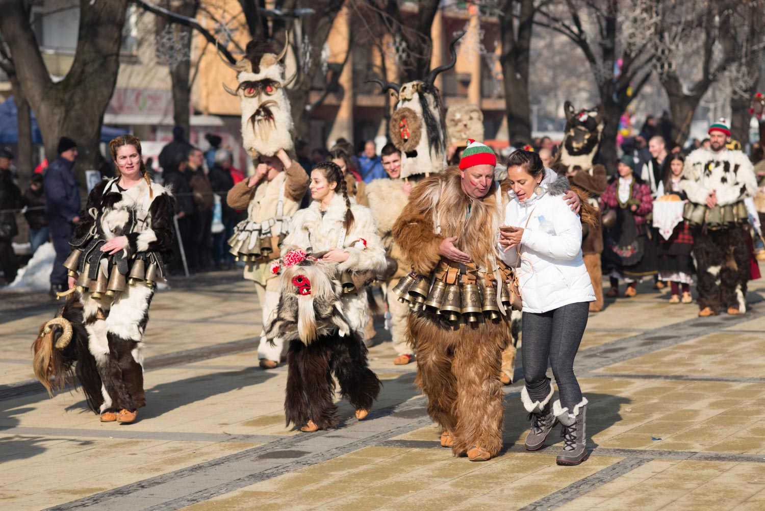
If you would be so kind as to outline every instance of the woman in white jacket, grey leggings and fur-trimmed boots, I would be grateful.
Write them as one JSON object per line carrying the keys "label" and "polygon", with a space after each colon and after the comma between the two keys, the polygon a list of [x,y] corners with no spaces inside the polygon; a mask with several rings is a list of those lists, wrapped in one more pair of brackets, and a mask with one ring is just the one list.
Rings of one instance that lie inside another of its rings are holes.
{"label": "woman in white jacket, grey leggings and fur-trimmed boots", "polygon": [[[595,293],[581,255],[581,221],[562,195],[568,180],[545,168],[539,155],[518,150],[507,162],[512,191],[500,232],[500,256],[516,275],[523,302],[521,351],[526,386],[521,399],[532,428],[526,448],[535,451],[558,422],[565,439],[557,463],[575,465],[587,456],[587,399],[574,374],[574,358]],[[545,375],[548,360],[560,399]]]}

